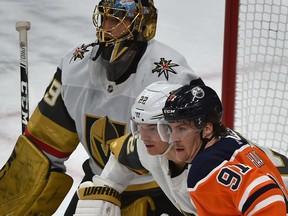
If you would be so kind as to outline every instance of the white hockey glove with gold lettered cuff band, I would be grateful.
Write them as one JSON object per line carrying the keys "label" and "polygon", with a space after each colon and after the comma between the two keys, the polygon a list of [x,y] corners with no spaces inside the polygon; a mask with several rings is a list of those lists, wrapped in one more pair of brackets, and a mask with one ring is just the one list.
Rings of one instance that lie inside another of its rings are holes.
{"label": "white hockey glove with gold lettered cuff band", "polygon": [[120,194],[123,190],[123,186],[95,175],[93,182],[83,182],[79,186],[79,200],[74,216],[120,216]]}

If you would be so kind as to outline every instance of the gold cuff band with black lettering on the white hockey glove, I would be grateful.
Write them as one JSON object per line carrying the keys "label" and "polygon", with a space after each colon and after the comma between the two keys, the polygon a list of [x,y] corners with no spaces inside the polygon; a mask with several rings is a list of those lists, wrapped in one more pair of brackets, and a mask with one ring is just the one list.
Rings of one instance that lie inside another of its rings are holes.
{"label": "gold cuff band with black lettering on the white hockey glove", "polygon": [[121,195],[111,187],[91,186],[78,189],[80,200],[104,200],[121,207]]}

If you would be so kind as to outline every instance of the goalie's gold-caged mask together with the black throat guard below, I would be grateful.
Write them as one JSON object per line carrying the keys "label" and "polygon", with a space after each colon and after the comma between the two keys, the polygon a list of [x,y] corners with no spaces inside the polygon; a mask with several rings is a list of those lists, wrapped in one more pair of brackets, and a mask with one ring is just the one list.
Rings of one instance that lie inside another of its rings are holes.
{"label": "goalie's gold-caged mask together with the black throat guard below", "polygon": [[101,0],[93,23],[100,43],[93,60],[98,59],[107,79],[116,82],[134,59],[140,60],[147,41],[155,36],[157,9],[153,0]]}

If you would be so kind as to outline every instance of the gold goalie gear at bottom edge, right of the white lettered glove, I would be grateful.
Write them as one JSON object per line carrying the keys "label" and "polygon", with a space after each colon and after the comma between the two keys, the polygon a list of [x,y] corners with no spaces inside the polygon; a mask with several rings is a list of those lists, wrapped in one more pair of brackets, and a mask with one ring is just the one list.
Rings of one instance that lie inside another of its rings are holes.
{"label": "gold goalie gear at bottom edge, right of the white lettered glove", "polygon": [[152,212],[155,211],[155,203],[153,199],[149,196],[141,197],[131,203],[129,206],[121,209],[122,216],[147,216],[147,209],[151,209]]}

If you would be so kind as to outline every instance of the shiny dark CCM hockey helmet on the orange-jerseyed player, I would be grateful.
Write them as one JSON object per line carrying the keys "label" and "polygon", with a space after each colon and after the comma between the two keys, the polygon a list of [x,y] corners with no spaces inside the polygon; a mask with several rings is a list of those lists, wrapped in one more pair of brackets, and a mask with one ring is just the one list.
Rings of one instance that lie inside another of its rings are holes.
{"label": "shiny dark CCM hockey helmet on the orange-jerseyed player", "polygon": [[221,122],[223,107],[217,93],[208,86],[185,85],[174,91],[163,108],[164,119],[168,122],[192,120],[198,128],[207,121],[207,115],[216,113]]}

